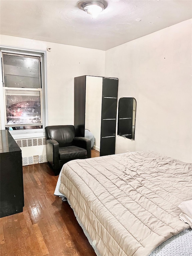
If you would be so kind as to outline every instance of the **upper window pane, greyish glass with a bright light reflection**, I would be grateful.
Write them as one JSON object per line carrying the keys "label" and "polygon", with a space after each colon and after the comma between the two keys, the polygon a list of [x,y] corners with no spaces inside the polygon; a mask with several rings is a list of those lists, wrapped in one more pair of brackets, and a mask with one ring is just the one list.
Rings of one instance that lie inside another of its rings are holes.
{"label": "upper window pane, greyish glass with a bright light reflection", "polygon": [[3,54],[6,87],[40,88],[39,58]]}

